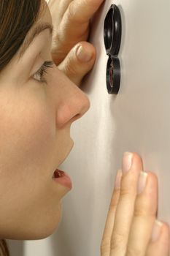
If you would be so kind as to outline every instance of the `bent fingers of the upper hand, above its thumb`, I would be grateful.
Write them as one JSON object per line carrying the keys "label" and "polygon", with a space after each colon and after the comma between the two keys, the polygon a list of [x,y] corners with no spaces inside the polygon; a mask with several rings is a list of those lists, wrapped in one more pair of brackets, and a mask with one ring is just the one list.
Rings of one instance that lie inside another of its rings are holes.
{"label": "bent fingers of the upper hand, above its thumb", "polygon": [[[61,8],[59,13],[60,15],[62,13],[63,17],[60,22],[55,18],[57,7],[55,8],[53,5],[50,6],[54,25],[51,52],[55,54],[56,65],[63,61],[74,45],[78,42],[88,40],[90,31],[89,20],[92,18],[96,10],[98,10],[98,7],[100,7],[103,1],[104,0],[71,1],[64,14],[64,8]],[[64,7],[66,7],[66,4],[68,3],[69,1],[66,1]]]}

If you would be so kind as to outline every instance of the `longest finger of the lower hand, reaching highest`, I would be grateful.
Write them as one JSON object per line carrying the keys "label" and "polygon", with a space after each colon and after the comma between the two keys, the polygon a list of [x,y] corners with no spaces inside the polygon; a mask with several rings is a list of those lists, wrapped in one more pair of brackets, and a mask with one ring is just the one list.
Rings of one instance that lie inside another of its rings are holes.
{"label": "longest finger of the lower hand, reaching highest", "polygon": [[115,226],[112,231],[110,256],[124,256],[126,253],[131,221],[134,216],[138,179],[142,169],[142,160],[137,154],[124,154],[123,177],[115,215]]}

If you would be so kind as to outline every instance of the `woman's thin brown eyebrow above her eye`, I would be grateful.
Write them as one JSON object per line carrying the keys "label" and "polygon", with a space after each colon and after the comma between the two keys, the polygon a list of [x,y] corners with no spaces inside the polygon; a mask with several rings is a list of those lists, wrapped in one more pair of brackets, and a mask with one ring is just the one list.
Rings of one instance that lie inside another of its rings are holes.
{"label": "woman's thin brown eyebrow above her eye", "polygon": [[23,54],[28,49],[29,45],[31,45],[31,42],[34,41],[35,37],[37,37],[45,29],[49,29],[50,35],[53,35],[54,28],[53,25],[51,25],[50,23],[39,23],[33,29],[31,29],[31,31],[28,31],[28,34],[26,35],[23,45],[21,45],[19,51],[19,59],[22,58]]}

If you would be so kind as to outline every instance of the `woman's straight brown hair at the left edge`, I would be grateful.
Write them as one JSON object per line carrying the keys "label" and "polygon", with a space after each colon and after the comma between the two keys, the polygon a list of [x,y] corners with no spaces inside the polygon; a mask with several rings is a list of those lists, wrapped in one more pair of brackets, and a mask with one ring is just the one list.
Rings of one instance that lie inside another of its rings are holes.
{"label": "woman's straight brown hair at the left edge", "polygon": [[[0,72],[20,49],[40,15],[42,3],[42,0],[0,0]],[[0,256],[9,256],[4,239],[0,240]]]}

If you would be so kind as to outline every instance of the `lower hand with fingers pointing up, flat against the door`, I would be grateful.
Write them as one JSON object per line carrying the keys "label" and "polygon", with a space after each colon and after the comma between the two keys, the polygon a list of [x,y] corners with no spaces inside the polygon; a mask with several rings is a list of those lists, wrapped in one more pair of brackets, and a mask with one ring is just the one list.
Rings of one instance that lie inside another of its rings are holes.
{"label": "lower hand with fingers pointing up, flat against the door", "polygon": [[142,160],[136,153],[125,172],[129,163],[117,172],[101,256],[169,256],[169,225],[156,220],[158,180],[151,172],[141,172]]}

